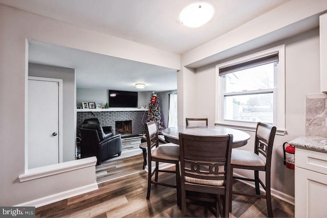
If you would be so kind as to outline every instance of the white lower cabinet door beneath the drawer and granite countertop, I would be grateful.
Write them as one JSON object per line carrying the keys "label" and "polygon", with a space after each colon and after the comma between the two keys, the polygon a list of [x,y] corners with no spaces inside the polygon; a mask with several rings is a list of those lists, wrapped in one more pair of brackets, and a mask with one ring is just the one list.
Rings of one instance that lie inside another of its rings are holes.
{"label": "white lower cabinet door beneath the drawer and granite countertop", "polygon": [[295,217],[326,217],[327,175],[295,167]]}

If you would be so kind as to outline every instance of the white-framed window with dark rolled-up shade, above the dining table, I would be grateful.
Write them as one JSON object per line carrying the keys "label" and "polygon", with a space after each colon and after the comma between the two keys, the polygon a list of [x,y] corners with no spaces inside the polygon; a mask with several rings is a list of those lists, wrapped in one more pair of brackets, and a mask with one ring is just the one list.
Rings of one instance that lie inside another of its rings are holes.
{"label": "white-framed window with dark rolled-up shade, above the dining table", "polygon": [[263,122],[285,133],[284,48],[274,47],[216,66],[217,124],[250,130]]}

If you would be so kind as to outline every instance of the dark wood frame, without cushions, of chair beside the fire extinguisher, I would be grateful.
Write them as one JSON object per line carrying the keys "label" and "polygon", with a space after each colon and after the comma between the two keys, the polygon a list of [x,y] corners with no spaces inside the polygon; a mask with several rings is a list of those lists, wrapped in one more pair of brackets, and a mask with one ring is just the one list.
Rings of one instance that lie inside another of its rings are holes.
{"label": "dark wood frame, without cushions, of chair beside the fire extinguisher", "polygon": [[[262,138],[258,135],[258,128],[259,126],[267,128],[270,130],[270,135],[269,139]],[[247,197],[254,197],[254,198],[263,198],[266,199],[267,201],[267,210],[268,210],[268,216],[273,217],[272,214],[272,206],[271,206],[271,190],[270,190],[270,185],[271,185],[271,176],[270,176],[270,170],[271,170],[271,155],[272,155],[272,146],[275,138],[275,133],[276,133],[276,127],[264,124],[264,123],[258,123],[256,126],[256,134],[255,134],[255,142],[254,142],[254,153],[259,155],[262,154],[266,158],[266,165],[265,166],[243,166],[243,165],[235,165],[231,164],[231,182],[232,178],[233,179],[239,179],[239,180],[246,180],[246,181],[251,181],[254,182],[255,184],[255,194],[250,194],[250,193],[244,193],[244,192],[237,192],[237,191],[232,191],[232,185],[230,186],[230,191],[229,191],[229,211],[231,212],[231,200],[232,200],[232,195],[241,195],[241,196],[247,196]],[[254,171],[254,179],[248,179],[248,178],[243,178],[243,177],[237,177],[233,176],[233,168],[239,168],[239,169],[250,169]],[[259,178],[259,171],[264,171],[266,174],[266,184],[264,184],[261,179]],[[266,191],[266,195],[261,195],[260,194],[260,186],[259,184],[263,187],[263,189]]]}

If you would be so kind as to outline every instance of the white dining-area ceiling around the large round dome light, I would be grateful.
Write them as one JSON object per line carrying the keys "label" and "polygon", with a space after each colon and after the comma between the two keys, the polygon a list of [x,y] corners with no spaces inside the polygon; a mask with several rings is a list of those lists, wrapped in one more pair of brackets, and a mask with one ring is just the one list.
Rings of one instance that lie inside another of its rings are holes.
{"label": "white dining-area ceiling around the large round dome light", "polygon": [[0,3],[86,29],[183,54],[288,0],[206,0],[216,13],[200,28],[178,21],[191,0],[0,0]]}

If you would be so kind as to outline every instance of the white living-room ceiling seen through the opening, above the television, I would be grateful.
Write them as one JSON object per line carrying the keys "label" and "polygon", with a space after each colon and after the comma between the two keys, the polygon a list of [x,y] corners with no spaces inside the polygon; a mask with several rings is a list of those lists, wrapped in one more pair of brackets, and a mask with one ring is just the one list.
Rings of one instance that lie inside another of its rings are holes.
{"label": "white living-room ceiling seen through the opening, above the television", "polygon": [[[74,68],[78,88],[124,91],[177,89],[177,70],[29,40],[29,62]],[[145,83],[136,89],[135,83]]]}

